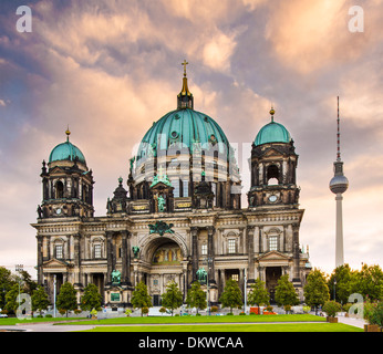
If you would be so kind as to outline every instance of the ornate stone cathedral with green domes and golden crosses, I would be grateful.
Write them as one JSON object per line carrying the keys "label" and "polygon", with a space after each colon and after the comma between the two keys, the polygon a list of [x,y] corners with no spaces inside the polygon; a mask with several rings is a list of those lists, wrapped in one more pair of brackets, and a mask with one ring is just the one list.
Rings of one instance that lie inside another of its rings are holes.
{"label": "ornate stone cathedral with green domes and golden crosses", "polygon": [[244,292],[260,278],[272,301],[278,279],[289,274],[303,301],[311,266],[299,241],[304,210],[290,133],[271,110],[270,122],[255,134],[242,208],[235,152],[218,123],[195,111],[186,64],[176,110],[144,135],[126,185],[120,178],[105,200],[105,216],[94,216],[93,173],[69,129],[42,163],[42,202],[32,226],[38,282],[50,296],[54,284],[59,291],[69,281],[80,302],[94,283],[104,305],[130,306],[134,287],[144,281],[159,305],[169,281],[186,299],[199,280],[218,304],[228,279]]}

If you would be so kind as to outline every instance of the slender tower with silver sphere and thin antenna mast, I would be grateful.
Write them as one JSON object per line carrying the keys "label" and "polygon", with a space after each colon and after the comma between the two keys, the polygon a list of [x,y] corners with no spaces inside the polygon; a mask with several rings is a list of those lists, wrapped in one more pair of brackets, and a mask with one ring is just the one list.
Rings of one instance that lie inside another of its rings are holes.
{"label": "slender tower with silver sphere and thin antenna mast", "polygon": [[343,162],[341,160],[341,133],[340,133],[340,119],[339,119],[339,96],[338,96],[338,153],[337,162],[334,162],[334,177],[330,180],[330,190],[337,195],[337,237],[335,237],[335,267],[343,266],[343,217],[342,217],[342,194],[349,188],[349,180],[343,175]]}

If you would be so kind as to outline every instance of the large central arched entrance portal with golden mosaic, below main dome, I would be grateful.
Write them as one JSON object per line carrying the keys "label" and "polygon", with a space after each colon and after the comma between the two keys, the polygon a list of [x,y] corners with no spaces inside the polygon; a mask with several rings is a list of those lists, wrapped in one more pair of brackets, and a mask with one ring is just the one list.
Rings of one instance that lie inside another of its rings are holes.
{"label": "large central arched entrance portal with golden mosaic, below main dome", "polygon": [[142,271],[154,306],[162,304],[162,294],[170,281],[185,294],[187,261],[182,246],[173,237],[164,236],[152,237],[145,244]]}

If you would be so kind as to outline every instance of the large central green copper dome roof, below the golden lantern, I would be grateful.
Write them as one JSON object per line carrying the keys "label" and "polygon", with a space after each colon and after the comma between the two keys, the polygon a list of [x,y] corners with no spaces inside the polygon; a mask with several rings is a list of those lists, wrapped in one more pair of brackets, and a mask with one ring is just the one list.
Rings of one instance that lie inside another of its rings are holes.
{"label": "large central green copper dome roof, below the golden lantern", "polygon": [[220,126],[208,115],[190,110],[180,108],[164,115],[153,123],[142,139],[137,164],[146,156],[156,156],[159,150],[168,150],[172,146],[188,148],[190,154],[195,143],[200,143],[201,148],[209,144],[217,146],[220,154],[229,155],[229,142]]}

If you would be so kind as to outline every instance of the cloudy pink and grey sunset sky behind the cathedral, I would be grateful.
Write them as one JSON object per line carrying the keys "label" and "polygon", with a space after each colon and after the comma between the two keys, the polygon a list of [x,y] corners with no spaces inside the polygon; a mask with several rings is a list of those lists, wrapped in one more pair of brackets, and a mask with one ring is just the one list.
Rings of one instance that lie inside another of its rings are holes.
{"label": "cloudy pink and grey sunset sky behind the cathedral", "polygon": [[[18,31],[19,6],[31,32]],[[328,273],[340,96],[344,258],[382,266],[382,0],[1,0],[0,266],[32,273],[41,163],[68,125],[93,169],[96,216],[106,214],[135,145],[176,108],[184,59],[195,108],[219,123],[242,167],[273,105],[299,154],[300,242]]]}

